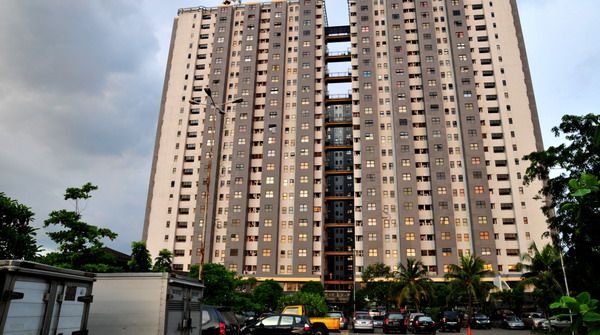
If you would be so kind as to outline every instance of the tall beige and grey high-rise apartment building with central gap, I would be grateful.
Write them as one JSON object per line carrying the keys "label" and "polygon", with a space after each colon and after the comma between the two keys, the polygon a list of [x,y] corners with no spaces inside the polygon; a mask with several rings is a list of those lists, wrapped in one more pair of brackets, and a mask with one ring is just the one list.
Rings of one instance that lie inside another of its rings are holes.
{"label": "tall beige and grey high-rise apartment building with central gap", "polygon": [[334,14],[348,24],[328,26],[322,0],[179,11],[151,253],[286,290],[344,292],[407,258],[442,278],[466,254],[518,278],[546,224],[541,183],[522,179],[542,141],[515,1],[349,0]]}

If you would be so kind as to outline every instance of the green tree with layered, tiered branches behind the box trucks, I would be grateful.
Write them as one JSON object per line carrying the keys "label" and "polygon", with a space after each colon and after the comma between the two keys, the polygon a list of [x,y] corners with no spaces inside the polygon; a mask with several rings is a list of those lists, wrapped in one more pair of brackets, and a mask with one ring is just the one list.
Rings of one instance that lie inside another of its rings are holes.
{"label": "green tree with layered, tiered branches behind the box trucks", "polygon": [[98,187],[87,183],[81,188],[68,188],[65,200],[75,202],[75,211],[61,209],[50,213],[44,221],[44,228],[62,226],[64,229],[47,232],[50,239],[58,244],[58,252],[49,253],[39,259],[50,265],[92,272],[121,271],[117,267],[115,257],[104,249],[102,239],[113,240],[117,237],[107,228],[99,228],[83,221],[80,202],[91,197],[90,192]]}

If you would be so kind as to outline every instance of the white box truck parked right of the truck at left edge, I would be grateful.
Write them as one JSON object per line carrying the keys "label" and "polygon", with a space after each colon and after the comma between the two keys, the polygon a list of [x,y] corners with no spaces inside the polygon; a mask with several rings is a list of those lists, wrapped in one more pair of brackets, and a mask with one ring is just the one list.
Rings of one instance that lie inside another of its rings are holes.
{"label": "white box truck parked right of the truck at left edge", "polygon": [[197,334],[203,289],[166,272],[98,273],[89,334]]}

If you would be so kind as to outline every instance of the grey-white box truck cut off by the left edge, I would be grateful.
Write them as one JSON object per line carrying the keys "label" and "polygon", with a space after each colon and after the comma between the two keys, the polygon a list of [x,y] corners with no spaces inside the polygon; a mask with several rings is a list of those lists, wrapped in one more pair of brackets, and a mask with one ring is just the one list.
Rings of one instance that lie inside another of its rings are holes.
{"label": "grey-white box truck cut off by the left edge", "polygon": [[0,260],[0,334],[87,334],[92,273]]}

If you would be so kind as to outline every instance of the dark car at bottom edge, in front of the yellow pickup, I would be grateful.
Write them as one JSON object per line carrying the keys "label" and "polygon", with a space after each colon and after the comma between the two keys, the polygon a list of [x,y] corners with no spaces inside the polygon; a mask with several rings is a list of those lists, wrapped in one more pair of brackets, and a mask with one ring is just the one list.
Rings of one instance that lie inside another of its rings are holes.
{"label": "dark car at bottom edge, in front of the yellow pickup", "polygon": [[242,328],[240,335],[312,335],[312,330],[305,316],[273,314]]}

